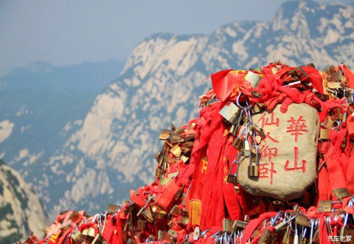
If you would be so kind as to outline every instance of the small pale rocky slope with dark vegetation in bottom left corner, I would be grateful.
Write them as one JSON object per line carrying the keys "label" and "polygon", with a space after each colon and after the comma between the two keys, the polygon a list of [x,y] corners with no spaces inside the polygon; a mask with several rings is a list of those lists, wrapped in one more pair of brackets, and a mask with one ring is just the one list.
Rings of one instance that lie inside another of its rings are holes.
{"label": "small pale rocky slope with dark vegetation in bottom left corner", "polygon": [[43,236],[47,225],[42,204],[21,175],[0,160],[0,243],[12,243],[30,231]]}

